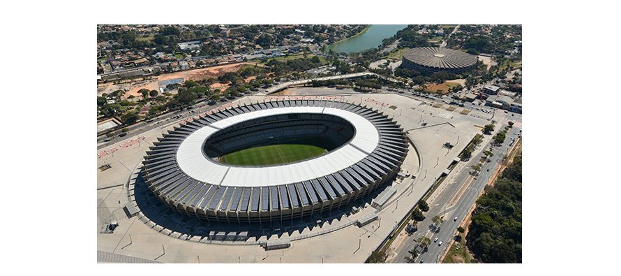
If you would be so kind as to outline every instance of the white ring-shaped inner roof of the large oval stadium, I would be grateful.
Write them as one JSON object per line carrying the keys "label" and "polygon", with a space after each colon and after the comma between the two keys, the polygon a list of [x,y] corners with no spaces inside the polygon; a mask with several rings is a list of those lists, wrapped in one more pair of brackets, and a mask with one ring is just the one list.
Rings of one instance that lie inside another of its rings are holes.
{"label": "white ring-shaped inner roof of the large oval stadium", "polygon": [[[290,113],[324,113],[341,117],[350,122],[356,132],[354,138],[347,145],[324,154],[320,157],[293,164],[267,167],[239,167],[219,164],[203,154],[204,141],[219,129],[224,129],[239,122]],[[297,106],[290,108],[273,108],[256,110],[233,117],[227,117],[218,122],[208,124],[190,134],[179,145],[177,163],[179,168],[188,176],[207,183],[222,186],[261,187],[266,185],[288,184],[311,180],[322,175],[329,175],[343,170],[367,157],[377,144],[380,135],[371,122],[354,112],[347,110],[317,107]]]}

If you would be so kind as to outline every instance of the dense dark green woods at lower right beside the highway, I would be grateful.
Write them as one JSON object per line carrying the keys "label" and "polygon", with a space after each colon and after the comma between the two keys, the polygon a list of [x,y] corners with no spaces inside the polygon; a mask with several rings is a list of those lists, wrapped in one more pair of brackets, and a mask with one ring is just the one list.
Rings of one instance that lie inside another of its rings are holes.
{"label": "dense dark green woods at lower right beside the highway", "polygon": [[466,245],[484,263],[522,262],[522,157],[477,200]]}

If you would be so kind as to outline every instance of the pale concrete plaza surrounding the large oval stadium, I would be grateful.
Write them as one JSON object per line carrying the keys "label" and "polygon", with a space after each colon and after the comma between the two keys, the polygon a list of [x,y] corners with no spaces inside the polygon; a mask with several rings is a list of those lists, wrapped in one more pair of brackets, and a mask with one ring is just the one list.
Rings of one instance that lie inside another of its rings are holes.
{"label": "pale concrete plaza surrounding the large oval stadium", "polygon": [[[309,93],[312,94],[312,89],[305,92]],[[327,93],[322,91],[322,94]],[[128,179],[138,168],[153,141],[176,124],[170,122],[98,150],[98,168],[105,164],[110,164],[110,168],[103,171],[98,169],[97,231],[106,221],[113,219],[119,222],[114,233],[98,234],[98,250],[163,263],[363,263],[437,178],[443,173],[449,173],[447,168],[457,159],[461,150],[476,133],[480,133],[482,126],[489,123],[484,117],[462,115],[461,108],[453,111],[446,107],[435,108],[401,94],[248,96],[231,105],[303,97],[359,103],[384,112],[406,131],[412,144],[402,170],[412,176],[391,184],[396,193],[380,210],[366,203],[359,212],[341,215],[338,219],[319,225],[280,235],[250,237],[245,242],[237,243],[200,242],[206,239],[183,236],[180,232],[183,229],[154,227],[139,217],[128,219],[123,210],[128,203]],[[445,143],[454,147],[444,147]],[[357,219],[373,212],[377,213],[379,219],[362,227],[354,224]],[[291,239],[291,247],[266,251],[258,245],[276,238]]]}

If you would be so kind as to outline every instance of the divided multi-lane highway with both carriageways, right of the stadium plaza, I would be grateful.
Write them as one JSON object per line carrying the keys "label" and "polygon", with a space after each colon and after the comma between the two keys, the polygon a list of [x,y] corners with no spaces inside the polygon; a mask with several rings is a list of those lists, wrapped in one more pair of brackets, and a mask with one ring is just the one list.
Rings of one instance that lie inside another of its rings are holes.
{"label": "divided multi-lane highway with both carriageways, right of the stadium plaza", "polygon": [[[504,127],[504,125],[497,127]],[[492,148],[494,155],[491,157],[491,161],[485,162],[483,166],[481,166],[481,172],[474,179],[469,173],[470,170],[472,170],[470,167],[477,164],[481,158],[481,152],[483,151],[479,152],[477,156],[472,157],[470,161],[467,161],[465,166],[462,165],[461,170],[458,170],[459,167],[456,168],[453,172],[457,173],[456,175],[452,177],[449,175],[449,177],[444,180],[449,182],[449,184],[447,184],[444,190],[440,191],[440,194],[437,195],[437,198],[435,198],[433,202],[428,202],[429,210],[428,212],[424,212],[425,219],[418,222],[418,230],[416,232],[405,238],[405,240],[396,247],[396,256],[391,259],[391,263],[406,263],[407,260],[405,257],[410,256],[408,251],[414,249],[417,245],[416,240],[423,235],[426,235],[432,242],[428,246],[428,252],[420,254],[415,262],[435,263],[441,261],[439,260],[440,254],[449,245],[456,228],[461,225],[463,219],[470,211],[470,208],[477,201],[477,198],[479,198],[479,194],[483,191],[494,171],[500,165],[504,154],[507,154],[511,138],[517,139],[518,131],[519,129],[517,127],[510,129],[507,132],[507,138],[504,143],[500,147]],[[472,182],[470,182],[471,180]],[[451,184],[451,182],[454,183]],[[468,182],[470,182],[470,184],[468,184]],[[467,186],[464,187],[466,184]],[[463,194],[460,196],[460,193]],[[456,197],[458,197],[458,199],[455,201]],[[433,231],[431,231],[431,224],[433,224],[431,220],[436,215],[440,215],[440,217],[444,219],[444,222],[440,225],[439,233],[433,233]],[[456,221],[454,221],[455,217],[457,217]],[[435,238],[438,238],[437,242],[433,242]],[[439,245],[440,241],[442,241],[442,245]]]}

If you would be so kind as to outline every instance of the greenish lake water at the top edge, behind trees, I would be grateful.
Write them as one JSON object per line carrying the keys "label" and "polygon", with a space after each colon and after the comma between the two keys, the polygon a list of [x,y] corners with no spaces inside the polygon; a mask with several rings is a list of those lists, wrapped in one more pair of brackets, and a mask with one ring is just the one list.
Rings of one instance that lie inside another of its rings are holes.
{"label": "greenish lake water at the top edge, behind trees", "polygon": [[332,49],[334,52],[362,52],[381,45],[384,38],[394,36],[397,31],[400,31],[405,27],[407,27],[407,24],[371,25],[371,27],[364,31],[364,33],[331,44],[327,47],[327,49]]}

